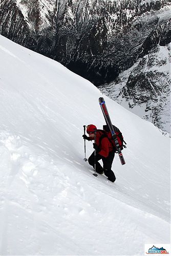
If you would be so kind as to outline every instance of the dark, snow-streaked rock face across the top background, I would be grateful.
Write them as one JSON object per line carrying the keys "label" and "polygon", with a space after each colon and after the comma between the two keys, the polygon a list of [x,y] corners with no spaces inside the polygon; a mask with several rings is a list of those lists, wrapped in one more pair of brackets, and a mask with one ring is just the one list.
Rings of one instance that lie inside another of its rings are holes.
{"label": "dark, snow-streaked rock face across the top background", "polygon": [[[170,1],[5,0],[0,33],[96,86],[170,41]],[[158,13],[158,15],[156,15]]]}

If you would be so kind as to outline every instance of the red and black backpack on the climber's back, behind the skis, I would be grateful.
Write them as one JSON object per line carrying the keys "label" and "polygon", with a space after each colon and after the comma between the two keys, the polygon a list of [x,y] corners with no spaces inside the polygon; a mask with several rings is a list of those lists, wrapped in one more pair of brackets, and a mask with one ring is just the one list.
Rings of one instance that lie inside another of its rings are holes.
{"label": "red and black backpack on the climber's back, behind the skis", "polygon": [[[126,142],[123,140],[123,136],[122,136],[122,133],[119,131],[119,129],[113,125],[113,129],[116,133],[116,137],[117,137],[117,140],[118,140],[118,143],[119,143],[119,146],[120,146],[120,149],[123,150],[123,147],[126,147],[125,145],[123,145],[123,142],[126,144]],[[114,150],[116,151],[116,146],[115,146],[115,142],[114,142],[114,139],[112,138],[112,134],[109,130],[109,127],[108,125],[103,125],[103,130],[100,130],[103,134],[102,136],[100,137],[100,140],[99,142],[101,143],[101,140],[104,138],[104,137],[108,137],[109,141],[112,143],[113,147],[114,147]]]}

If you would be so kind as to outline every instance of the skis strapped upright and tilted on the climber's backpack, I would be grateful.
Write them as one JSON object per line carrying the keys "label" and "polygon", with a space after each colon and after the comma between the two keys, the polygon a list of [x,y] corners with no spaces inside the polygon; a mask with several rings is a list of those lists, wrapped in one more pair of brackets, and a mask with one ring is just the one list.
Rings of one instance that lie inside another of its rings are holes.
{"label": "skis strapped upright and tilted on the climber's backpack", "polygon": [[104,99],[102,97],[99,98],[99,104],[100,104],[100,108],[102,110],[102,113],[103,113],[106,125],[108,125],[109,130],[110,130],[111,135],[112,135],[112,139],[114,140],[114,143],[115,143],[115,146],[116,146],[116,150],[117,150],[118,155],[119,155],[120,162],[123,165],[123,164],[125,164],[125,160],[124,160],[123,154],[121,152],[121,149],[120,149],[120,146],[119,146],[119,142],[118,142],[118,139],[117,139],[117,135],[116,135],[116,132],[114,131],[114,127],[112,125],[112,122],[111,122],[108,110],[106,108],[105,101],[104,101]]}

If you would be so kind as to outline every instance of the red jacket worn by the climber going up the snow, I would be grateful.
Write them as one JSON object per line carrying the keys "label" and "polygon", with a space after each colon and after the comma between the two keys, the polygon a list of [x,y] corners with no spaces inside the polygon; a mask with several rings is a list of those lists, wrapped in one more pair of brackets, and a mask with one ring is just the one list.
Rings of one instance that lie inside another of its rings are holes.
{"label": "red jacket worn by the climber going up the snow", "polygon": [[[103,135],[102,132],[97,131],[97,133],[96,133],[96,144],[100,148],[100,151],[98,152],[98,154],[103,156],[103,157],[108,157],[109,153],[114,150],[114,147],[113,147],[112,143],[110,142],[110,140],[108,139],[108,137],[104,137],[100,141],[100,137],[102,135]],[[94,140],[94,138],[92,138],[92,137],[89,137],[89,138],[91,138],[91,140]]]}

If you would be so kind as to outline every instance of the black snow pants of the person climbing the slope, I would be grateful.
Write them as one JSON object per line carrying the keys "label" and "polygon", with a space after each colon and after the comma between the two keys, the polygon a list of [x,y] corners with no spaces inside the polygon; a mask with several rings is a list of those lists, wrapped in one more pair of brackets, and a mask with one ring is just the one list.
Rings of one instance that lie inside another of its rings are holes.
{"label": "black snow pants of the person climbing the slope", "polygon": [[[108,157],[102,157],[101,155],[96,154],[96,172],[99,173],[99,174],[102,174],[104,172],[104,175],[106,177],[108,177],[108,180],[110,180],[112,182],[114,182],[116,180],[115,174],[111,170],[114,157],[115,157],[115,152],[114,151],[110,152]],[[103,162],[103,167],[98,162],[100,159]],[[93,166],[93,168],[95,167],[94,151],[91,154],[91,156],[89,157],[88,162],[89,162],[90,165]]]}

